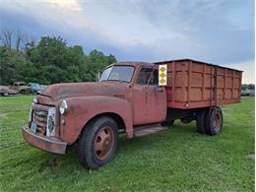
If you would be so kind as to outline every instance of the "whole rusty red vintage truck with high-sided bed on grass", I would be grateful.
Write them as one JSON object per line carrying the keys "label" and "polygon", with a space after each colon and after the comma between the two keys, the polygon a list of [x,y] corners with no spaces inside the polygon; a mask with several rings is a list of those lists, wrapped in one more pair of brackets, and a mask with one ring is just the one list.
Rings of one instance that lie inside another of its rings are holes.
{"label": "whole rusty red vintage truck with high-sided bed on grass", "polygon": [[242,71],[191,59],[113,63],[98,82],[55,84],[35,96],[23,137],[55,154],[78,143],[80,162],[96,169],[114,158],[119,134],[167,131],[180,119],[219,135],[220,106],[240,101],[241,78]]}

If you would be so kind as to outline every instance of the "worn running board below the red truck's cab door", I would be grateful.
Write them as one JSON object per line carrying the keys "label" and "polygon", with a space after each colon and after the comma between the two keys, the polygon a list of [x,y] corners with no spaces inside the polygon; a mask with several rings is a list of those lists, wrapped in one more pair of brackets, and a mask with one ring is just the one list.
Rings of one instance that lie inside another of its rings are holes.
{"label": "worn running board below the red truck's cab door", "polygon": [[143,137],[143,136],[151,135],[153,133],[157,133],[166,129],[167,127],[163,127],[160,124],[136,126],[134,127],[133,134],[135,137]]}

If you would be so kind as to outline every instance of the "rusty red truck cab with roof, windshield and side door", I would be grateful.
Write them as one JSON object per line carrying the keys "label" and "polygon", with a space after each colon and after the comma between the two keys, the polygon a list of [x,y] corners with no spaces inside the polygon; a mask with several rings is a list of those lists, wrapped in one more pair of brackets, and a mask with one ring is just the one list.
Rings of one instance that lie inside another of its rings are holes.
{"label": "rusty red truck cab with roof, windshield and side door", "polygon": [[[166,93],[159,86],[159,68],[151,63],[117,63],[104,70],[100,83],[119,82],[125,87],[123,97],[132,110],[132,125],[161,122],[166,116]],[[124,83],[124,84],[123,84]],[[130,134],[129,137],[133,135]]]}

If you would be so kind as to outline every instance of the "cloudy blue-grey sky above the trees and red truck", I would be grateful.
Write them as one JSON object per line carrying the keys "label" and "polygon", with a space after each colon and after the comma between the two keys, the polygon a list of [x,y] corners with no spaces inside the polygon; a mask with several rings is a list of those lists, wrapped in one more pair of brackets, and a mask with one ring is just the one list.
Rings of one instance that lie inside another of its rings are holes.
{"label": "cloudy blue-grey sky above the trees and red truck", "polygon": [[254,83],[254,0],[0,0],[0,30],[18,28],[118,61],[191,58],[236,68]]}

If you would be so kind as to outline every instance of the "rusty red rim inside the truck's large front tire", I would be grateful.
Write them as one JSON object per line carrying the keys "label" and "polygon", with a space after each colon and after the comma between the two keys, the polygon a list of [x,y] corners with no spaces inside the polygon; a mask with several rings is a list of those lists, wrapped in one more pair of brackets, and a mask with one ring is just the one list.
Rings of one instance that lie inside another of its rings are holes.
{"label": "rusty red rim inside the truck's large front tire", "polygon": [[103,127],[96,135],[95,155],[96,159],[104,160],[109,156],[114,146],[114,133],[111,127]]}

